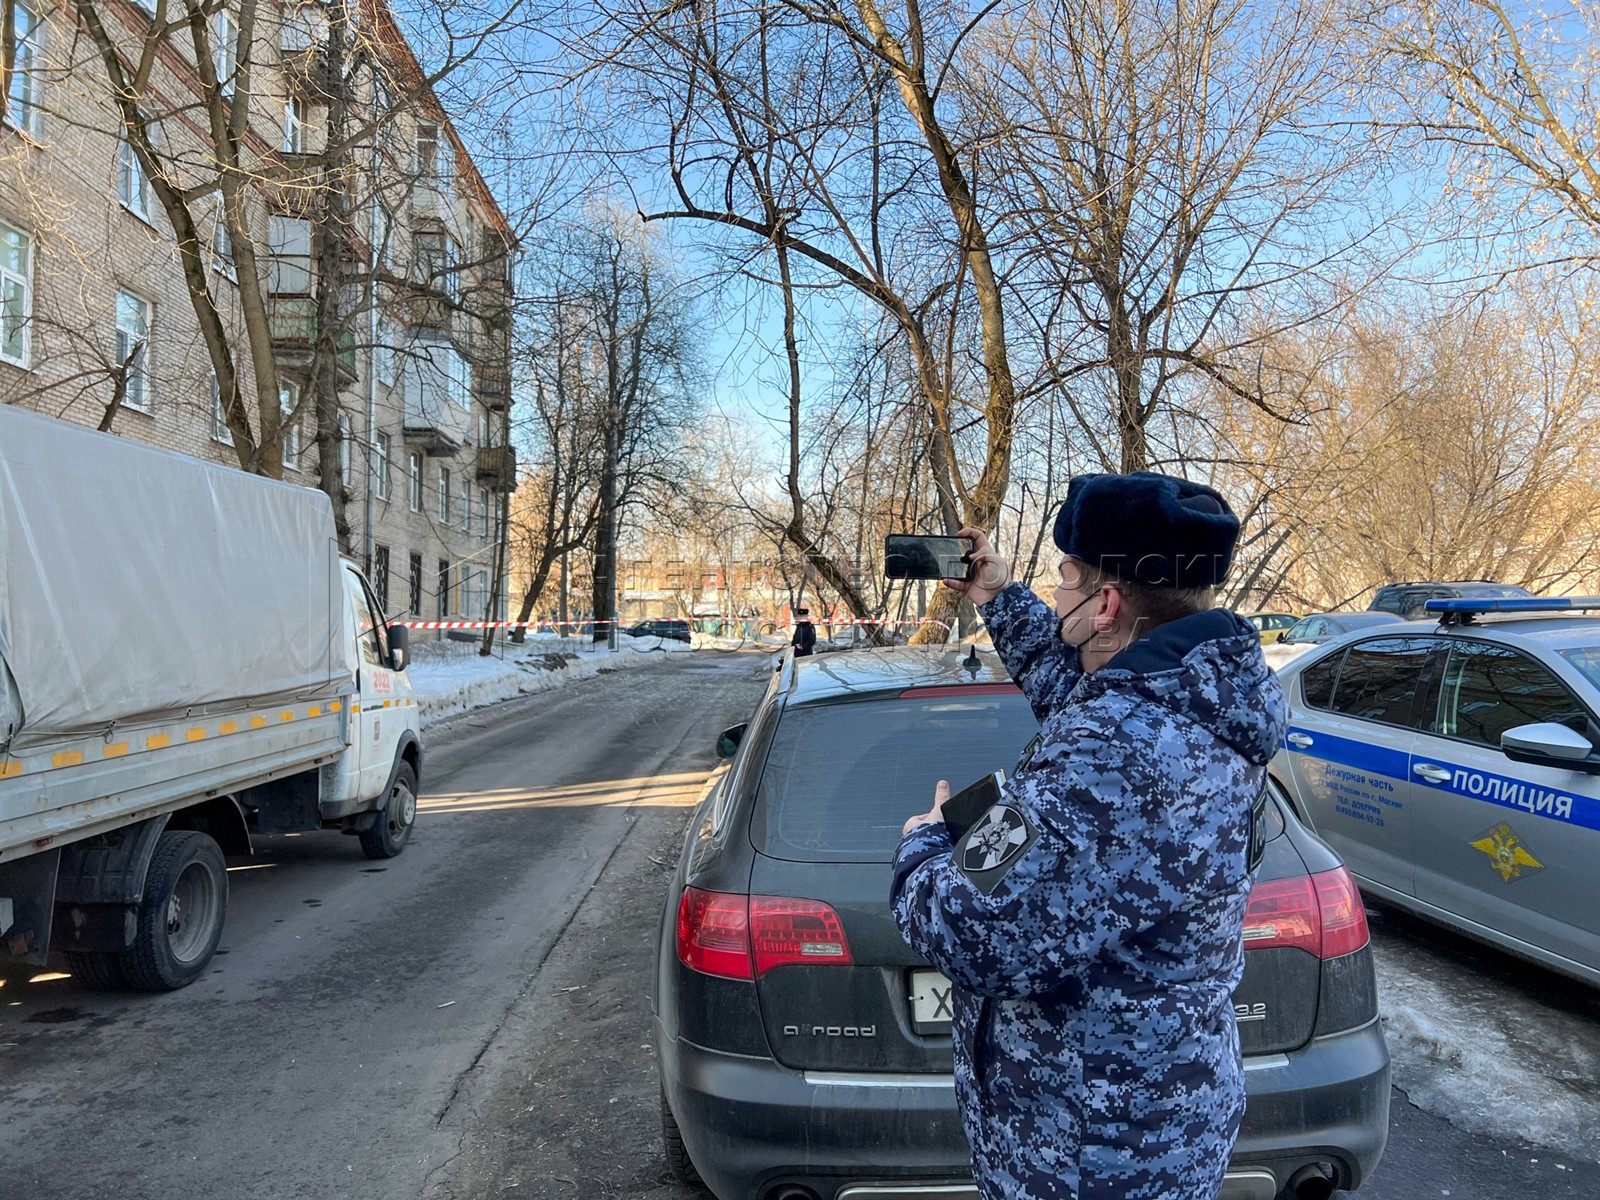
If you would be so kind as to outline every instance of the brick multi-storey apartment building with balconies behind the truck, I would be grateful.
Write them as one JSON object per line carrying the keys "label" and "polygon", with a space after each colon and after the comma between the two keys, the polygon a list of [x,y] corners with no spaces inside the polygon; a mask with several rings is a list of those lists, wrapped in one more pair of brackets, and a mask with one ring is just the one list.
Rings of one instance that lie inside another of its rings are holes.
{"label": "brick multi-storey apartment building with balconies behind the truck", "polygon": [[517,474],[504,210],[382,0],[229,0],[205,37],[186,3],[16,0],[0,403],[320,486],[389,613],[478,619]]}

